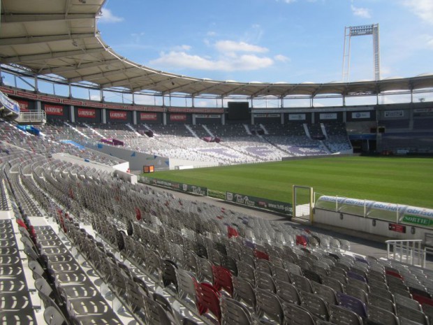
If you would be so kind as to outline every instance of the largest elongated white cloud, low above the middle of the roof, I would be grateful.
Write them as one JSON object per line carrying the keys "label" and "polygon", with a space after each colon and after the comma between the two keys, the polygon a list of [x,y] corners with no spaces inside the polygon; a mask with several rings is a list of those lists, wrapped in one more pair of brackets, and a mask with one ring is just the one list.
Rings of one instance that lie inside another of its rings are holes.
{"label": "largest elongated white cloud, low above the middle of the roof", "polygon": [[189,55],[186,52],[171,51],[161,53],[158,59],[149,64],[167,68],[192,68],[207,71],[251,71],[267,68],[273,64],[270,57],[258,57],[252,54],[223,56],[220,59],[206,59],[198,55]]}

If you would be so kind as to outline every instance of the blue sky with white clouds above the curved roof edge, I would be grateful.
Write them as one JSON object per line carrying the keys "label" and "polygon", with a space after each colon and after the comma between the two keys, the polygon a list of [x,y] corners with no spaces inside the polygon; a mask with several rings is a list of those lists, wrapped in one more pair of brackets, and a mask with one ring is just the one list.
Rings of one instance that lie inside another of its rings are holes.
{"label": "blue sky with white clouds above the curved roof edge", "polygon": [[[240,82],[342,80],[344,27],[377,24],[381,78],[433,73],[433,0],[108,0],[115,52],[162,71]],[[351,81],[371,80],[372,37],[353,37]]]}

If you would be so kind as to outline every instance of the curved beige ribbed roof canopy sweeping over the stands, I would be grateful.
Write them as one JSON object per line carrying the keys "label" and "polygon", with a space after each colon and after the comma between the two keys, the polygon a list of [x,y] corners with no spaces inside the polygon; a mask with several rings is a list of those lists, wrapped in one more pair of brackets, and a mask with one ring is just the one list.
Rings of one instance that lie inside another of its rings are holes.
{"label": "curved beige ribbed roof canopy sweeping over the stands", "polygon": [[36,75],[59,75],[68,83],[101,89],[200,96],[251,97],[379,94],[433,88],[433,75],[361,82],[233,82],[157,71],[117,55],[101,39],[96,22],[105,0],[2,0],[0,63]]}

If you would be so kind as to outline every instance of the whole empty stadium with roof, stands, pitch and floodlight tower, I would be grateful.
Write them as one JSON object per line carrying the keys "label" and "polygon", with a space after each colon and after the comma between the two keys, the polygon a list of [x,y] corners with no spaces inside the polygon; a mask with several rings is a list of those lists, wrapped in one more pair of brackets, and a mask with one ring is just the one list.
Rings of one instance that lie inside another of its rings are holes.
{"label": "whole empty stadium with roof, stands, pitch and floodlight tower", "polygon": [[1,1],[1,324],[433,324],[432,74],[159,71],[105,5]]}

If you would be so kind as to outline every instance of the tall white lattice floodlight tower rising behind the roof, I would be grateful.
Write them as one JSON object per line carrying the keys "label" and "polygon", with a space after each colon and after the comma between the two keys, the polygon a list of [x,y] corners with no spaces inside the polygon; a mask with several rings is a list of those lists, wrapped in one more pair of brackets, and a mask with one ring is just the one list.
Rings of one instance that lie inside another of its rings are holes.
{"label": "tall white lattice floodlight tower rising behind the roof", "polygon": [[344,27],[343,81],[348,82],[351,69],[351,37],[373,36],[374,80],[381,79],[381,54],[379,48],[379,24]]}

